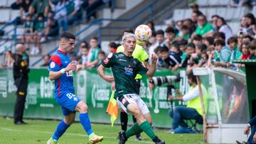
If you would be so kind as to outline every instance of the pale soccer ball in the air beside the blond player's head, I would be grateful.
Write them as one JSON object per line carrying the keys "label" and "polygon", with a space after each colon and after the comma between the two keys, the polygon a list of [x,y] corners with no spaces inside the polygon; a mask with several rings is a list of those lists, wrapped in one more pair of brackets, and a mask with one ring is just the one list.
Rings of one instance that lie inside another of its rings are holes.
{"label": "pale soccer ball in the air beside the blond player's head", "polygon": [[135,36],[137,40],[140,40],[140,41],[149,40],[151,35],[152,35],[152,31],[149,28],[149,26],[146,26],[146,25],[139,25],[135,30]]}

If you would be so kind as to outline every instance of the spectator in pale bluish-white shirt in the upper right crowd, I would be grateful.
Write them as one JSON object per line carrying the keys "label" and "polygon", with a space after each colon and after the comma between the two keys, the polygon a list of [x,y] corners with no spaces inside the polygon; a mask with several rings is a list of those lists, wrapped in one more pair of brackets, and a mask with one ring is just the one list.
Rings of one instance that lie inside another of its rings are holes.
{"label": "spectator in pale bluish-white shirt in the upper right crowd", "polygon": [[228,38],[233,36],[233,32],[231,28],[227,25],[227,23],[225,22],[225,19],[222,17],[218,18],[217,31],[225,33],[225,43],[228,42]]}

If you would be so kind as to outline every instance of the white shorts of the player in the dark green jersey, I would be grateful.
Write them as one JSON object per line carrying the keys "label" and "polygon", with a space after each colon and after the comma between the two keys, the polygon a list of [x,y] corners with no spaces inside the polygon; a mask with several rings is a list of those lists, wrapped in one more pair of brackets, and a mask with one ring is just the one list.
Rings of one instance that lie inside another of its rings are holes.
{"label": "white shorts of the player in the dark green jersey", "polygon": [[148,107],[146,106],[144,101],[139,97],[139,95],[137,95],[137,94],[124,94],[123,97],[121,97],[121,99],[119,99],[119,97],[117,97],[118,106],[120,108],[122,108],[122,110],[124,110],[126,113],[129,113],[129,111],[127,111],[127,106],[130,103],[137,104],[137,106],[139,106],[139,109],[141,109],[143,115],[149,113]]}

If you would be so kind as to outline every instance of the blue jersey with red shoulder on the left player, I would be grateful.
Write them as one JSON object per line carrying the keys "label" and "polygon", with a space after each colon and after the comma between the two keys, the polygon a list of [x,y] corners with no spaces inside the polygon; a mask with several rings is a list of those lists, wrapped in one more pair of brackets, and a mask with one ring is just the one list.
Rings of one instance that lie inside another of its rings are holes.
{"label": "blue jersey with red shoulder on the left player", "polygon": [[[57,50],[55,55],[50,57],[49,71],[58,72],[68,66],[71,62],[70,58],[65,52]],[[58,79],[55,79],[55,96],[62,96],[66,92],[75,93],[73,85],[73,72],[65,72]]]}

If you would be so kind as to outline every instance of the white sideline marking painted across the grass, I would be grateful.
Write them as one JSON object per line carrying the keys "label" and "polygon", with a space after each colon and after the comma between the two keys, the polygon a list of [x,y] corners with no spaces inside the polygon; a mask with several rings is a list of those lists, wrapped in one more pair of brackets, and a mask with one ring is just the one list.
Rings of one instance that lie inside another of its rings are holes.
{"label": "white sideline marking painted across the grass", "polygon": [[[53,132],[50,132],[50,131],[27,131],[27,130],[15,130],[15,129],[11,129],[11,128],[0,128],[1,130],[4,130],[4,131],[17,131],[17,132],[31,132],[31,133],[50,133],[52,134]],[[75,135],[75,136],[82,136],[82,137],[88,137],[88,135],[82,135],[82,134],[77,134],[77,133],[65,133],[65,135]],[[110,139],[117,139],[115,137],[107,137],[107,136],[104,136],[104,138],[110,138]],[[148,142],[148,141],[136,141],[136,140],[128,140],[128,141],[132,141],[132,142],[139,142],[139,143],[153,143],[153,142]]]}

